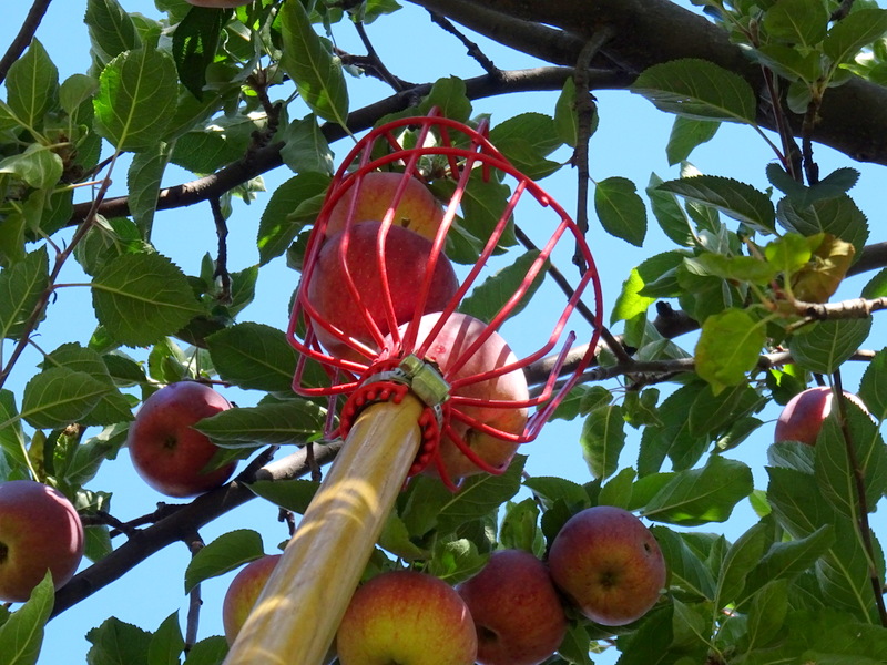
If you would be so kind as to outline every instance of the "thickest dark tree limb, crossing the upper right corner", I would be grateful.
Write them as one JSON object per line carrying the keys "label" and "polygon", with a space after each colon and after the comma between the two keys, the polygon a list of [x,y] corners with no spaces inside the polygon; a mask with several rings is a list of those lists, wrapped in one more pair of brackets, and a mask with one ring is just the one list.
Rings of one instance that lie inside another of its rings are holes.
{"label": "thickest dark tree limb, crossing the upper right corner", "polygon": [[[669,0],[410,0],[504,45],[555,64],[577,61],[585,41],[604,27],[614,35],[602,50],[638,74],[680,58],[702,58],[740,74],[758,95],[758,122],[775,130],[761,68],[705,17]],[[509,29],[503,29],[503,22]],[[560,31],[550,25],[559,28]],[[534,30],[544,39],[533,39]],[[560,32],[560,34],[557,34]],[[791,115],[799,135],[803,117]],[[853,79],[826,91],[812,139],[860,162],[887,165],[887,89]]]}

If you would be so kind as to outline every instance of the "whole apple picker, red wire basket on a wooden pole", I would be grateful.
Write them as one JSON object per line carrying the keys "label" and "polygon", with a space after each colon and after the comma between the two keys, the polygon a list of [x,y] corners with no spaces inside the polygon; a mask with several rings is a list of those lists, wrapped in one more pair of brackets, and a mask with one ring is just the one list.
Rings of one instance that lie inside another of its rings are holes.
{"label": "whole apple picker, red wire basket on a wooden pole", "polygon": [[[326,433],[344,444],[227,665],[322,663],[408,479],[458,491],[468,475],[502,473],[594,357],[601,287],[585,238],[487,130],[435,110],[396,120],[333,178],[287,336],[294,390],[328,399]],[[421,212],[417,181],[446,201],[442,214]],[[554,266],[574,257],[571,285]],[[539,346],[512,349],[504,337],[517,329],[520,345]],[[531,392],[524,369],[542,358],[554,362]]]}

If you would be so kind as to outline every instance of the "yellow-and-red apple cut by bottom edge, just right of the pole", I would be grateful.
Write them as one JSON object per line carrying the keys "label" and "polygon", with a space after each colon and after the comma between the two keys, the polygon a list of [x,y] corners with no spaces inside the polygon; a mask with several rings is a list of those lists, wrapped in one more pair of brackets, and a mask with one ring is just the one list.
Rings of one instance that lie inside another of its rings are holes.
{"label": "yellow-and-red apple cut by bottom edge, just right of the pole", "polygon": [[359,586],[336,635],[341,665],[471,665],[475,624],[446,582],[391,571]]}

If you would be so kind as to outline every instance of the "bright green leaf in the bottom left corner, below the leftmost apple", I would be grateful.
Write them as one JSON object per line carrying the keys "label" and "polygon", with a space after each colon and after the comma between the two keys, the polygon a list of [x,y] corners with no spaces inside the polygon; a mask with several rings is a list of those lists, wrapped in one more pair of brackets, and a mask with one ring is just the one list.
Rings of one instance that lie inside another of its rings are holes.
{"label": "bright green leaf in the bottom left corner, below the leftmost apple", "polygon": [[0,665],[35,665],[55,594],[48,572],[31,597],[0,625]]}

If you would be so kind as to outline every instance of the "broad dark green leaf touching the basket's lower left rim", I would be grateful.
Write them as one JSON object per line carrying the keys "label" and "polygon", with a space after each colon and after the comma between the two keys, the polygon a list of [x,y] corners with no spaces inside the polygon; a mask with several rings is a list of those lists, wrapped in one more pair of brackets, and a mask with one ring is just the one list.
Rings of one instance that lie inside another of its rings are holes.
{"label": "broad dark green leaf touching the basket's lower left rim", "polygon": [[296,351],[283,330],[243,323],[206,338],[218,376],[241,388],[292,393]]}

